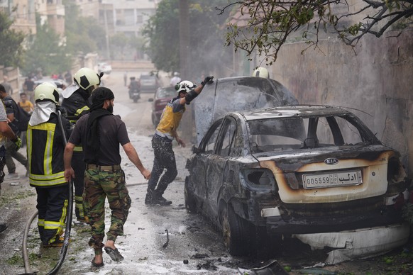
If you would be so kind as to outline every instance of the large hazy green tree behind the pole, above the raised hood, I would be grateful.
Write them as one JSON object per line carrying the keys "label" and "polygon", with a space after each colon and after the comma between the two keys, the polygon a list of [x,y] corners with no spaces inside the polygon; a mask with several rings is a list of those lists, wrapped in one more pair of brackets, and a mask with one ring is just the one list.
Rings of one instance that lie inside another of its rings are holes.
{"label": "large hazy green tree behind the pole, above the raised hood", "polygon": [[[148,39],[146,53],[157,69],[172,72],[180,68],[179,0],[163,0],[143,29]],[[222,26],[226,21],[219,16],[214,6],[228,3],[227,0],[189,1],[189,72],[199,77],[212,72],[216,67],[226,67],[231,62],[231,51],[224,45]]]}

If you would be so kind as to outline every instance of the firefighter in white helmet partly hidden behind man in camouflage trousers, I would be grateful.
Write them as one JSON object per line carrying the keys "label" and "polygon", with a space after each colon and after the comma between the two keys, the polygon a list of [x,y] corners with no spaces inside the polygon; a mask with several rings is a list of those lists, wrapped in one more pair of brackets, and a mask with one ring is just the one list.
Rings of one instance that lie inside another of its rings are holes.
{"label": "firefighter in white helmet partly hidden behind man in camouflage trousers", "polygon": [[[89,113],[91,106],[90,95],[101,83],[102,76],[103,73],[98,75],[93,69],[79,69],[73,77],[74,82],[72,85],[62,91],[62,107],[67,111],[67,118],[71,123],[76,123],[81,116]],[[77,222],[75,223],[77,224],[85,224],[88,222],[87,216],[84,214],[82,199],[84,188],[83,175],[86,168],[83,157],[82,146],[75,147],[75,152],[72,157],[72,167],[75,170],[73,183],[75,185],[75,214],[77,218]]]}

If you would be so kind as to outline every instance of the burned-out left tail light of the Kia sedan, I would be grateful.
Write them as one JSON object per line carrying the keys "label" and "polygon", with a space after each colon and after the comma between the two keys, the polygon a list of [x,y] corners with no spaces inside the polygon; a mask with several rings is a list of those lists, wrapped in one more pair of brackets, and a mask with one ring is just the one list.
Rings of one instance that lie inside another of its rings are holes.
{"label": "burned-out left tail light of the Kia sedan", "polygon": [[274,174],[270,169],[242,169],[241,184],[250,191],[277,191]]}

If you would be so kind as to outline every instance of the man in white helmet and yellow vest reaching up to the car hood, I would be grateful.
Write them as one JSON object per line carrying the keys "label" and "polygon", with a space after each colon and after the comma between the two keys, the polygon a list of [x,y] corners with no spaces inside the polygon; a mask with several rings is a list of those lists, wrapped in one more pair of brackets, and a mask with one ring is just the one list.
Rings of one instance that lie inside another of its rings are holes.
{"label": "man in white helmet and yellow vest reaching up to the car hood", "polygon": [[[214,77],[205,77],[200,86],[184,80],[175,86],[178,96],[172,99],[163,109],[160,122],[152,138],[152,147],[155,158],[153,160],[152,175],[148,182],[145,204],[168,206],[172,201],[167,201],[163,193],[167,186],[177,176],[177,164],[172,150],[172,140],[185,147],[185,142],[177,134],[177,128],[185,112],[185,104],[189,104],[211,82]],[[165,174],[160,175],[166,169]],[[158,182],[159,181],[159,182]]]}

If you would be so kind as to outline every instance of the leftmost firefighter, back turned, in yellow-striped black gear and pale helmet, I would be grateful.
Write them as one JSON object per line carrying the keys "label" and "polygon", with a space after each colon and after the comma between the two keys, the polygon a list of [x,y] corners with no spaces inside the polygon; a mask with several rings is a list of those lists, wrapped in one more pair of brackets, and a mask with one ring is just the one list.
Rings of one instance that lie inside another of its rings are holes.
{"label": "leftmost firefighter, back turned, in yellow-striped black gear and pale helmet", "polygon": [[35,108],[26,133],[29,184],[36,189],[38,230],[43,247],[62,245],[69,189],[65,180],[65,137],[70,135],[70,122],[62,118],[60,127],[57,87],[44,82],[34,91]]}

